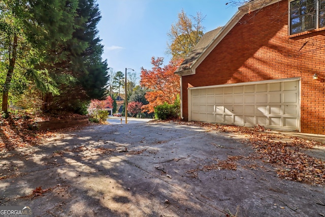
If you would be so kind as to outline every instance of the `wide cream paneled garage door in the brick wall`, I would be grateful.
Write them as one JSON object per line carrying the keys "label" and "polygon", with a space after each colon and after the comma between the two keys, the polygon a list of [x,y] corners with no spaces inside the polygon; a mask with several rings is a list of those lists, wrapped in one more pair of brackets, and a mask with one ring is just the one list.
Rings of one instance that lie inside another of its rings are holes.
{"label": "wide cream paneled garage door in the brick wall", "polygon": [[300,130],[299,79],[189,88],[189,120]]}

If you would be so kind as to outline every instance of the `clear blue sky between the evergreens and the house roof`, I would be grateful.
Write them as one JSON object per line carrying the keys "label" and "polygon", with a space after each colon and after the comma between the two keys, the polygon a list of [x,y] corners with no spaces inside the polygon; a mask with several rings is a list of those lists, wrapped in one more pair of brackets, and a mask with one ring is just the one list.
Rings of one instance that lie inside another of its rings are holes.
{"label": "clear blue sky between the evergreens and the house roof", "polygon": [[204,33],[225,25],[237,8],[225,5],[227,0],[97,0],[102,15],[98,24],[104,45],[103,58],[113,71],[132,68],[140,74],[141,67],[151,69],[151,57],[166,54],[171,25],[183,9],[187,16],[201,12]]}

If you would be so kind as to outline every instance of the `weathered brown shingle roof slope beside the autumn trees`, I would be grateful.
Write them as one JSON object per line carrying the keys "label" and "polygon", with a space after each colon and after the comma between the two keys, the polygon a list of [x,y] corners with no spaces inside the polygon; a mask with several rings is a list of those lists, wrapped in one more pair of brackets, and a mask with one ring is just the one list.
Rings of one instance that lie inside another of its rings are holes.
{"label": "weathered brown shingle roof slope beside the autumn trees", "polygon": [[184,59],[183,63],[178,67],[175,73],[180,73],[181,71],[190,69],[192,63],[200,56],[200,54],[208,47],[208,45],[213,41],[213,39],[220,32],[222,27],[211,30],[205,33],[198,44],[193,48],[193,50]]}

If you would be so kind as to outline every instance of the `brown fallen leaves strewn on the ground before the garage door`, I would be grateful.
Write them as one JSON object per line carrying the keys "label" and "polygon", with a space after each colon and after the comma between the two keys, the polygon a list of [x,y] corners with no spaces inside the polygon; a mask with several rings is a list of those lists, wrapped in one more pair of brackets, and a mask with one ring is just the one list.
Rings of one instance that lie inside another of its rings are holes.
{"label": "brown fallen leaves strewn on the ground before the garage door", "polygon": [[[325,162],[302,151],[302,149],[310,149],[316,145],[325,146],[323,142],[273,133],[261,126],[247,128],[195,121],[178,123],[240,136],[243,138],[243,143],[251,145],[255,150],[251,158],[259,158],[274,166],[280,178],[309,184],[325,183]],[[220,161],[217,165],[210,166],[210,168],[213,167],[214,169],[234,170],[236,164],[234,161]]]}

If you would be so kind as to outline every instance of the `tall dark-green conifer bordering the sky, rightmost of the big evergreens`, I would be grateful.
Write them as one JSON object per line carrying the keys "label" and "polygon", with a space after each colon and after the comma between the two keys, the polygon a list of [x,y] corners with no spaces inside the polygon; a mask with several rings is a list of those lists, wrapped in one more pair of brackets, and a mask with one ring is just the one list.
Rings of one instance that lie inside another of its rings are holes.
{"label": "tall dark-green conifer bordering the sky, rightmost of the big evergreens", "polygon": [[[98,5],[93,0],[79,0],[72,38],[61,45],[67,52],[66,58],[55,68],[67,70],[66,75],[71,75],[74,79],[67,79],[67,76],[66,79],[61,79],[60,94],[53,98],[51,92],[48,92],[50,101],[44,99],[44,105],[48,106],[43,110],[74,111],[74,101],[103,99],[106,96],[108,64],[102,60],[103,45],[96,29],[100,19]],[[54,77],[58,74],[55,71]]]}

